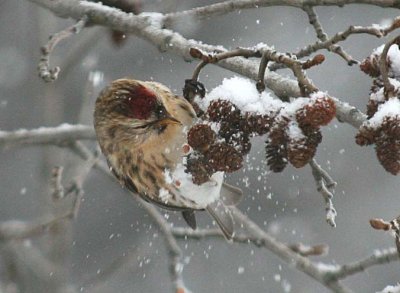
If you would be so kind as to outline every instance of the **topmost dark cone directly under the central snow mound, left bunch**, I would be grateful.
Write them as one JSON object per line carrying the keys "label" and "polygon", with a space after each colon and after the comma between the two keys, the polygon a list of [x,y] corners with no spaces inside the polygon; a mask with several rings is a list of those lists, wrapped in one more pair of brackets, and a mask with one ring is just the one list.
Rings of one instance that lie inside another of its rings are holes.
{"label": "topmost dark cone directly under the central snow mound, left bunch", "polygon": [[240,110],[232,102],[227,100],[214,100],[207,109],[207,116],[210,121],[226,121],[237,123],[240,120]]}

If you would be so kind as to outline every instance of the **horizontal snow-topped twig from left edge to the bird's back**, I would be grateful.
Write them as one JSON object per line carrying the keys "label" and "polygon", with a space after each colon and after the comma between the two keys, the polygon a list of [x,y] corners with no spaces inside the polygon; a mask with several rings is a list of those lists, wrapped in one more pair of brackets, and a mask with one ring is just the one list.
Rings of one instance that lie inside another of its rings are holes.
{"label": "horizontal snow-topped twig from left edge to the bird's back", "polygon": [[95,139],[92,126],[61,124],[56,127],[0,131],[0,148],[19,145],[63,145],[81,139]]}

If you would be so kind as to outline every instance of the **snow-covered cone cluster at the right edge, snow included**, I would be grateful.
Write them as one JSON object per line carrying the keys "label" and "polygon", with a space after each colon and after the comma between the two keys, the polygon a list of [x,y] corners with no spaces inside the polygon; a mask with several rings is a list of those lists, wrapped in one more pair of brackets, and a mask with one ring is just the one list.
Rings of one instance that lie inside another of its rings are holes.
{"label": "snow-covered cone cluster at the right edge, snow included", "polygon": [[400,51],[391,46],[386,65],[389,82],[394,87],[391,96],[385,93],[380,76],[379,59],[383,45],[376,49],[360,65],[361,70],[375,77],[367,104],[368,120],[356,135],[356,143],[361,146],[375,144],[375,151],[384,169],[393,175],[400,173]]}

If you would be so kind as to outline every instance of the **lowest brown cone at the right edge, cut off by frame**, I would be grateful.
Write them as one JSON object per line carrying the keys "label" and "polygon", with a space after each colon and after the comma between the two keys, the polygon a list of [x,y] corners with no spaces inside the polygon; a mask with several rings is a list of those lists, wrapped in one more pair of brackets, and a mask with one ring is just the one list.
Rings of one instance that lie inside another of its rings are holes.
{"label": "lowest brown cone at the right edge, cut off by frame", "polygon": [[381,137],[376,142],[376,155],[386,171],[393,175],[400,173],[400,139]]}

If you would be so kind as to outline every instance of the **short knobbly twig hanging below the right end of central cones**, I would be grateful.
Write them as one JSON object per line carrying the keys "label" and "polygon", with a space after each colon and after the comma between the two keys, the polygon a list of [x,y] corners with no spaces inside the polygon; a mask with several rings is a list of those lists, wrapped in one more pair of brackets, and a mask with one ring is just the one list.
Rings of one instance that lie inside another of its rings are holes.
{"label": "short knobbly twig hanging below the right end of central cones", "polygon": [[312,169],[312,174],[317,185],[317,190],[321,193],[325,200],[325,211],[326,211],[326,221],[332,227],[336,227],[335,218],[337,212],[333,205],[333,191],[336,186],[336,182],[329,176],[329,174],[322,169],[322,167],[317,163],[315,159],[312,159],[309,163]]}

